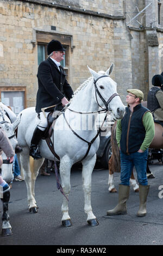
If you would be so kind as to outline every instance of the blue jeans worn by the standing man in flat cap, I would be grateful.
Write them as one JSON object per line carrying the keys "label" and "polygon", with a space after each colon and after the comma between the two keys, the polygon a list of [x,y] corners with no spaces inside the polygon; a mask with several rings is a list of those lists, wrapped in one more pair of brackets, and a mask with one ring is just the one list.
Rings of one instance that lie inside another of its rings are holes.
{"label": "blue jeans worn by the standing man in flat cap", "polygon": [[130,155],[120,152],[121,155],[121,185],[130,185],[130,176],[135,166],[137,173],[137,180],[139,184],[146,186],[148,185],[147,180],[147,159],[148,159],[148,149],[143,153],[135,152]]}

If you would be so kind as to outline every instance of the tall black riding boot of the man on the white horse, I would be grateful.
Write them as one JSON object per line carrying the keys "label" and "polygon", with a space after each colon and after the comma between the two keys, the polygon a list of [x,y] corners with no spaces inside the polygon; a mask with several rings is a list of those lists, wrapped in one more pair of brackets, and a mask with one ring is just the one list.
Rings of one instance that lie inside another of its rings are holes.
{"label": "tall black riding boot of the man on the white horse", "polygon": [[43,136],[44,131],[41,131],[39,128],[35,128],[33,137],[30,143],[30,151],[29,155],[32,156],[34,159],[41,159],[42,156],[40,155],[38,149],[39,142]]}

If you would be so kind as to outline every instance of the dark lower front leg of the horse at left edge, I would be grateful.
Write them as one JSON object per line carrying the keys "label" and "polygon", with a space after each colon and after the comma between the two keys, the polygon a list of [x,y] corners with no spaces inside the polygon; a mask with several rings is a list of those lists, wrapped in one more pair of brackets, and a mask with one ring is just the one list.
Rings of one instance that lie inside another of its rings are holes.
{"label": "dark lower front leg of the horse at left edge", "polygon": [[8,213],[8,204],[10,200],[10,191],[7,191],[3,194],[1,198],[3,204],[3,215],[2,215],[2,236],[12,235],[10,217]]}

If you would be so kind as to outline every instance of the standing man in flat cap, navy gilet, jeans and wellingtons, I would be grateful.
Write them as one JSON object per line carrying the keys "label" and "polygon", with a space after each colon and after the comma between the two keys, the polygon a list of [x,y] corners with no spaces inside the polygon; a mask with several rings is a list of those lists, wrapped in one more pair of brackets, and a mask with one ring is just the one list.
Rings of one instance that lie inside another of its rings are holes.
{"label": "standing man in flat cap, navy gilet, jeans and wellingtons", "polygon": [[117,120],[116,139],[121,156],[121,184],[119,184],[118,204],[107,211],[107,215],[127,214],[126,202],[129,198],[129,179],[135,166],[139,181],[140,205],[137,216],[146,215],[149,191],[146,168],[148,147],[154,138],[154,121],[151,111],[141,105],[143,93],[138,89],[128,89],[126,113]]}

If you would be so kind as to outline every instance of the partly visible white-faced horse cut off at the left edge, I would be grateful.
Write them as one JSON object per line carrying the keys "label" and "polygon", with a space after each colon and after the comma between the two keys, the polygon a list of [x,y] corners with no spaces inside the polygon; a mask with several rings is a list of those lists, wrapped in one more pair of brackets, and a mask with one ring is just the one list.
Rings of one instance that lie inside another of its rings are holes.
{"label": "partly visible white-faced horse cut off at the left edge", "polygon": [[[5,130],[12,148],[15,150],[17,140],[14,131],[16,130],[18,124],[20,123],[20,117],[17,118],[14,123],[11,124],[10,119],[5,115],[3,109],[0,107],[0,125],[1,127]],[[2,152],[2,159],[3,162],[7,160],[7,156]],[[13,179],[13,174],[12,174],[12,163],[3,163],[2,164],[2,178],[10,184],[10,182]],[[7,236],[7,235],[12,235],[11,231],[11,225],[9,222],[9,214],[8,214],[8,203],[10,199],[10,191],[7,191],[3,194],[2,204],[3,204],[3,215],[2,215],[2,235]]]}

